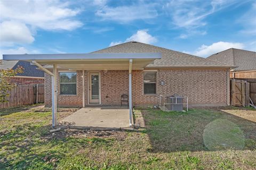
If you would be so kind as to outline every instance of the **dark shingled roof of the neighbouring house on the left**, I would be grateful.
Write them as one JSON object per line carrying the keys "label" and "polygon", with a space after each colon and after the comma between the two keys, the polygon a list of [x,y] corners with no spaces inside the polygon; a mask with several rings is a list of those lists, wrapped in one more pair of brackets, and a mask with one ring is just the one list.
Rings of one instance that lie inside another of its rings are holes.
{"label": "dark shingled roof of the neighbouring house on the left", "polygon": [[36,69],[37,66],[30,65],[30,62],[25,61],[0,61],[0,69],[17,69],[18,66],[23,67],[23,73],[18,73],[19,76],[26,77],[44,77],[44,72],[42,70]]}

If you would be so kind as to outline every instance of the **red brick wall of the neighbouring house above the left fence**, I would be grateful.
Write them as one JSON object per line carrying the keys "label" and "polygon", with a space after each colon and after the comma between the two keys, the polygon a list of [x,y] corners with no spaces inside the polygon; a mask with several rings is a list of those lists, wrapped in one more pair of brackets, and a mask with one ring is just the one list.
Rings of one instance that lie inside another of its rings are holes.
{"label": "red brick wall of the neighbouring house above the left fence", "polygon": [[26,77],[12,77],[10,78],[12,83],[16,84],[43,84],[44,79],[42,78],[26,78]]}

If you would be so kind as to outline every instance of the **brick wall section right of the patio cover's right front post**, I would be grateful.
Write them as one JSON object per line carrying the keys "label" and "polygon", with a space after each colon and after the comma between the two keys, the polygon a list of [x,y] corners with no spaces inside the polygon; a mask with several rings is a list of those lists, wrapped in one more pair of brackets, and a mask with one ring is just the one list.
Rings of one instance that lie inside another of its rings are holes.
{"label": "brick wall section right of the patio cover's right front post", "polygon": [[[159,104],[157,95],[143,95],[143,71],[133,72],[133,102]],[[164,81],[164,86],[159,84]],[[166,96],[179,94],[188,97],[189,104],[226,105],[227,70],[159,69],[157,72],[157,94]]]}

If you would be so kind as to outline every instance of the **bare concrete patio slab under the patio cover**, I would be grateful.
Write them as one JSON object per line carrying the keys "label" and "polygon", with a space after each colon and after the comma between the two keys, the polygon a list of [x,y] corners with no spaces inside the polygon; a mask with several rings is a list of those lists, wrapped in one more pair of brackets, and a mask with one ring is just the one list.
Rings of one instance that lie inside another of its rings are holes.
{"label": "bare concrete patio slab under the patio cover", "polygon": [[59,125],[79,129],[130,128],[127,107],[87,107],[65,117]]}

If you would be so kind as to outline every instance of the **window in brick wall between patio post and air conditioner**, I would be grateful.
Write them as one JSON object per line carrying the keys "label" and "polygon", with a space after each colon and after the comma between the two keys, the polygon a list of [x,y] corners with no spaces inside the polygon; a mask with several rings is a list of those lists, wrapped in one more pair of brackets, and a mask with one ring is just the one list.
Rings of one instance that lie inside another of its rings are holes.
{"label": "window in brick wall between patio post and air conditioner", "polygon": [[156,72],[144,72],[144,94],[156,94]]}

